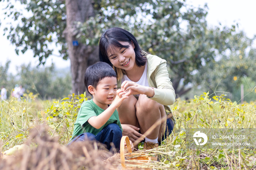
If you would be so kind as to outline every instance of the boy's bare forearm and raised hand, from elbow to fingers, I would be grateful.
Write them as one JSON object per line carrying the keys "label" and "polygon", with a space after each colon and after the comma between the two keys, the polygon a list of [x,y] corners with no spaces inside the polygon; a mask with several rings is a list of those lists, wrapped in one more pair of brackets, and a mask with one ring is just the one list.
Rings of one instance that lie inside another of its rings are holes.
{"label": "boy's bare forearm and raised hand, from elbow to fingers", "polygon": [[88,119],[88,123],[90,123],[90,125],[92,125],[96,129],[101,128],[109,120],[116,108],[121,105],[123,100],[125,98],[128,98],[128,96],[123,97],[123,94],[125,94],[125,92],[123,92],[123,90],[121,89],[118,89],[116,92],[116,98],[113,100],[112,104],[100,115],[90,117]]}

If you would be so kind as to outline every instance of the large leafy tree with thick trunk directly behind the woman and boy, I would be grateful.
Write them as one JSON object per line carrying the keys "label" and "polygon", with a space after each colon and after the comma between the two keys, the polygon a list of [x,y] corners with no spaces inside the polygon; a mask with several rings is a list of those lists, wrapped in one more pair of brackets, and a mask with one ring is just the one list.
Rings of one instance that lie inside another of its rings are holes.
{"label": "large leafy tree with thick trunk directly behind the woman and boy", "polygon": [[99,37],[110,27],[127,29],[143,50],[166,59],[177,96],[191,90],[188,84],[202,82],[196,76],[209,71],[208,64],[230,49],[236,30],[207,28],[207,6],[190,8],[178,0],[18,0],[30,16],[5,1],[10,3],[6,16],[22,20],[6,29],[17,53],[33,49],[44,64],[51,45],[61,46],[61,57],[71,61],[76,94],[84,90],[84,70],[97,61]]}

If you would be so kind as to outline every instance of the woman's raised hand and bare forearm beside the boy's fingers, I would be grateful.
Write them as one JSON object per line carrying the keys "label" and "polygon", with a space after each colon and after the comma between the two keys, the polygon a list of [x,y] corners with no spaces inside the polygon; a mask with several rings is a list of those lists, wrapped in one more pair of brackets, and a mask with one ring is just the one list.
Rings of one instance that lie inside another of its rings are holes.
{"label": "woman's raised hand and bare forearm beside the boy's fingers", "polygon": [[155,95],[153,88],[139,85],[133,81],[125,80],[121,85],[121,90],[125,92],[125,96],[135,95],[135,94],[146,94],[149,97]]}

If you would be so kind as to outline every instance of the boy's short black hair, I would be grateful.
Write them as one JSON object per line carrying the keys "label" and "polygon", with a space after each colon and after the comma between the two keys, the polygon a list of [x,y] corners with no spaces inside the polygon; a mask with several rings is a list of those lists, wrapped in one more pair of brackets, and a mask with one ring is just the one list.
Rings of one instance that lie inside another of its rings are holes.
{"label": "boy's short black hair", "polygon": [[84,85],[86,86],[87,92],[89,92],[89,85],[96,88],[99,81],[105,77],[116,77],[116,72],[108,63],[99,61],[89,66],[84,74]]}

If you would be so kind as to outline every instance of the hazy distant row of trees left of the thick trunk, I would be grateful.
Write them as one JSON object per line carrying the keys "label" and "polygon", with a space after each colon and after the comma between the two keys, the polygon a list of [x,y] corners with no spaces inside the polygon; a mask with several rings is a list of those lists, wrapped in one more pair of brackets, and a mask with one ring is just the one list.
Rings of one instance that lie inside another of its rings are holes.
{"label": "hazy distant row of trees left of the thick trunk", "polygon": [[0,87],[7,89],[11,97],[15,85],[22,85],[25,93],[38,94],[41,99],[63,98],[71,92],[71,74],[69,70],[56,70],[54,65],[44,68],[32,68],[30,64],[17,67],[17,74],[8,73],[10,61],[0,65]]}

